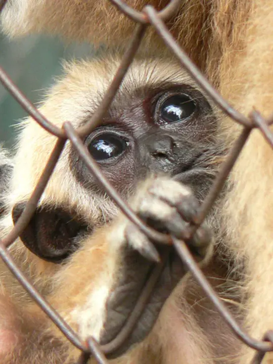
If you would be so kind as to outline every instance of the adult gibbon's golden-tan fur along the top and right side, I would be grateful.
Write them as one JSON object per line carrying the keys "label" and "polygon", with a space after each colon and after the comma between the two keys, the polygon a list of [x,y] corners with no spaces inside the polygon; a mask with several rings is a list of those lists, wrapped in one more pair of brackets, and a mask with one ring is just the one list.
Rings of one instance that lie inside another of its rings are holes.
{"label": "adult gibbon's golden-tan fur along the top and right side", "polygon": [[[47,30],[68,38],[87,39],[97,44],[109,41],[117,45],[120,40],[124,42],[125,34],[131,34],[131,23],[112,10],[108,2],[88,2],[86,5],[71,0],[57,5],[44,0],[40,2],[40,8],[34,1],[30,3],[35,11],[26,23],[5,18],[8,2],[3,15],[7,33],[23,35],[29,31]],[[165,5],[165,2],[153,2],[155,5],[159,3]],[[127,4],[139,9],[143,6],[142,1],[128,1]],[[87,10],[89,16],[86,16]],[[19,18],[22,17],[22,12],[18,14]],[[86,21],[82,21],[82,14]],[[194,0],[181,2],[173,22],[172,32],[179,43],[206,71],[222,95],[245,114],[253,106],[266,116],[272,112],[272,15],[271,0]],[[14,22],[20,26],[15,28]],[[152,52],[155,47],[162,49],[162,43],[154,40],[149,43],[149,38],[147,41]],[[233,121],[225,118],[219,123],[219,134],[228,147],[239,129]],[[250,297],[245,307],[246,327],[256,338],[273,328],[271,165],[272,150],[262,136],[254,132],[230,177],[230,185],[235,187],[225,197],[223,209],[224,229],[228,233],[225,245],[239,263],[243,261],[245,264],[242,292]],[[231,350],[235,351],[234,348]],[[236,362],[249,362],[252,355],[253,351],[244,347]],[[270,358],[270,354],[267,357]]]}

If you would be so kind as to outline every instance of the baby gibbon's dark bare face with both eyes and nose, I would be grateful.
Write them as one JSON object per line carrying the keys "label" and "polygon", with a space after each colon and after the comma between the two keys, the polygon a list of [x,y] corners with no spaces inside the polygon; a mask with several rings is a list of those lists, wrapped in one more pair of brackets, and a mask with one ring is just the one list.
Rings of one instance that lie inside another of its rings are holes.
{"label": "baby gibbon's dark bare face with both eyes and nose", "polygon": [[[166,172],[191,185],[197,197],[207,191],[209,157],[215,154],[216,119],[202,93],[187,85],[146,86],[120,94],[102,125],[84,143],[124,196],[149,173]],[[71,171],[87,189],[97,181],[75,151]]]}

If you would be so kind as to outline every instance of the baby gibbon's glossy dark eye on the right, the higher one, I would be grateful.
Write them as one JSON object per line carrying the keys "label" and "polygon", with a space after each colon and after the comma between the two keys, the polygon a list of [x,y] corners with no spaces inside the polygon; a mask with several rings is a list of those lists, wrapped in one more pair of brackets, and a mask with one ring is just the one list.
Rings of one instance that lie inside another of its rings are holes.
{"label": "baby gibbon's glossy dark eye on the right, the higher one", "polygon": [[159,118],[165,123],[172,123],[187,119],[195,111],[196,103],[190,96],[173,95],[159,106]]}

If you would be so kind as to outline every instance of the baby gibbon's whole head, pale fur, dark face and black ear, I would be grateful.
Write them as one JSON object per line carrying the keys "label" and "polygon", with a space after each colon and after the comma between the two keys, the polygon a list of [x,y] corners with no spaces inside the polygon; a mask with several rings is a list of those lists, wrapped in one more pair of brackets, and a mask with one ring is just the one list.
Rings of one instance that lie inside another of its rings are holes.
{"label": "baby gibbon's whole head, pale fur, dark face and black ear", "polygon": [[[52,122],[86,123],[100,104],[118,60],[66,64],[41,112]],[[135,61],[110,109],[84,145],[122,197],[150,174],[165,173],[202,199],[210,186],[216,117],[199,87],[173,61]],[[16,221],[53,148],[55,137],[28,119],[15,157],[10,206]],[[24,176],[22,178],[22,175]],[[21,179],[18,185],[17,181]],[[117,213],[96,178],[67,143],[21,239],[36,255],[63,261],[86,231]]]}

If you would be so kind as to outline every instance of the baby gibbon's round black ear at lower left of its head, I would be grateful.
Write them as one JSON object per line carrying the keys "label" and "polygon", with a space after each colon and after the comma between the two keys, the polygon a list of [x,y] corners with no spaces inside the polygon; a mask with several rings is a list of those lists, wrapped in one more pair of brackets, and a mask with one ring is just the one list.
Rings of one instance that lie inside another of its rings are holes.
{"label": "baby gibbon's round black ear at lower left of its head", "polygon": [[[26,202],[19,202],[13,207],[14,223],[21,216],[25,205]],[[86,230],[86,225],[63,209],[42,206],[36,209],[20,239],[41,259],[60,263],[77,250],[77,238]]]}

